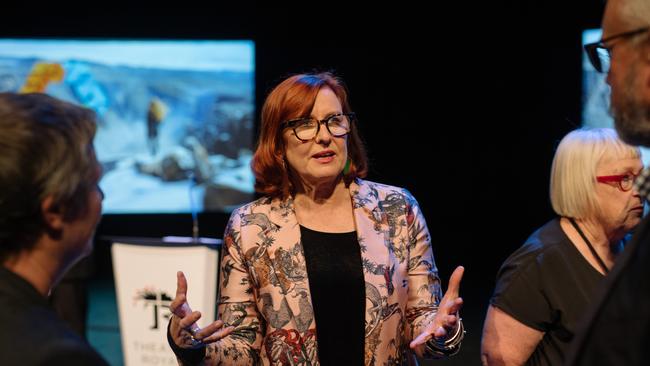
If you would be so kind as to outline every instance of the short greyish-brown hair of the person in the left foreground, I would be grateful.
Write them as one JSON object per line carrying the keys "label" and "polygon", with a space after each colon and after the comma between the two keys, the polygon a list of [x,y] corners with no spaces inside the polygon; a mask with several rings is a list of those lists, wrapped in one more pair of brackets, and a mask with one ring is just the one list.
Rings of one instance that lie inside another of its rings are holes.
{"label": "short greyish-brown hair of the person in the left foreground", "polygon": [[46,230],[46,197],[75,219],[86,212],[99,164],[95,114],[45,94],[0,93],[0,260]]}

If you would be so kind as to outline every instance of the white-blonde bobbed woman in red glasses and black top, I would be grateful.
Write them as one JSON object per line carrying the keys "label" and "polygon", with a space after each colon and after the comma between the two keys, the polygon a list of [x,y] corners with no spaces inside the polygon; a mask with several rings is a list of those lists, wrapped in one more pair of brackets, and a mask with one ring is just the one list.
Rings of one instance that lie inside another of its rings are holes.
{"label": "white-blonde bobbed woman in red glasses and black top", "polygon": [[576,326],[640,222],[639,150],[612,129],[560,142],[550,195],[558,217],[535,231],[497,275],[483,329],[484,365],[561,365]]}

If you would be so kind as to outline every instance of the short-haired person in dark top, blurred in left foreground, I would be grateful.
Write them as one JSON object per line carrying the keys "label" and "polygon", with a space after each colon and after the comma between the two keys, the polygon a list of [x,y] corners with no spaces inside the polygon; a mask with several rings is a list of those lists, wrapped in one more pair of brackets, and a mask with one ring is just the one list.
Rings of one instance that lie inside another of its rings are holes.
{"label": "short-haired person in dark top, blurred in left foreground", "polygon": [[3,365],[107,365],[47,297],[92,250],[101,216],[95,115],[45,94],[0,93]]}

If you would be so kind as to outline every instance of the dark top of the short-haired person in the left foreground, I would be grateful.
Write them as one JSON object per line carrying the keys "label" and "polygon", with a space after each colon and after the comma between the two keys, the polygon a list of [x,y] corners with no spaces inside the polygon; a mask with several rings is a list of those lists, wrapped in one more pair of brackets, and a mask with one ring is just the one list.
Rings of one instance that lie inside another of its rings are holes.
{"label": "dark top of the short-haired person in the left foreground", "polygon": [[108,366],[36,289],[0,265],[2,365]]}

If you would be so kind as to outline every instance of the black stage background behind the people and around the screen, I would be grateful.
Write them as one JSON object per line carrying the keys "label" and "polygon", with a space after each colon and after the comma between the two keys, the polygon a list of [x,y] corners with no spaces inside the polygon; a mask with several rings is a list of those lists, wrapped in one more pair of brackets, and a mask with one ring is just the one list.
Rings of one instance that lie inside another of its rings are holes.
{"label": "black stage background behind the people and around the screen", "polygon": [[[500,264],[553,218],[553,151],[580,123],[581,31],[599,25],[603,5],[565,2],[393,2],[356,10],[328,2],[300,14],[251,2],[83,15],[15,10],[20,20],[1,24],[0,32],[253,39],[257,116],[285,76],[336,72],[359,117],[371,161],[367,179],[406,187],[418,199],[445,287],[456,265],[466,267],[467,341],[456,358],[431,364],[467,365],[479,364],[482,321]],[[221,237],[226,220],[202,214],[201,235]],[[97,235],[191,235],[191,218],[105,216]],[[94,276],[112,276],[108,242],[97,240],[93,259]]]}

